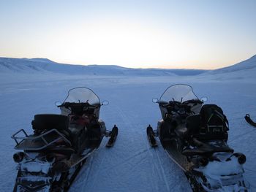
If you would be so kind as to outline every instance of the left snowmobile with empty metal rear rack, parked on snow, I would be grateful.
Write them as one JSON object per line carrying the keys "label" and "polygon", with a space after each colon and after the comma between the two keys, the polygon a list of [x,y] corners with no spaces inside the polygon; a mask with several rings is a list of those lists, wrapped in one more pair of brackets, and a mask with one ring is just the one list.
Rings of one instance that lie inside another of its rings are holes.
{"label": "left snowmobile with empty metal rear rack, parked on snow", "polygon": [[110,137],[107,147],[116,142],[118,128],[107,131],[99,119],[99,97],[89,88],[73,88],[57,107],[61,115],[34,115],[29,135],[20,129],[12,135],[18,163],[13,191],[68,191],[80,168],[102,142]]}

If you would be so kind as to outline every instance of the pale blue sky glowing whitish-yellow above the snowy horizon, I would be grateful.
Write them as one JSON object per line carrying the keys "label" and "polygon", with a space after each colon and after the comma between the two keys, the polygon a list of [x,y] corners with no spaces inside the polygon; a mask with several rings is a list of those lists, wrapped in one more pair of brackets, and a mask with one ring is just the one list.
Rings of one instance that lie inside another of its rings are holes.
{"label": "pale blue sky glowing whitish-yellow above the snowy horizon", "polygon": [[255,54],[255,0],[0,0],[1,57],[217,69]]}

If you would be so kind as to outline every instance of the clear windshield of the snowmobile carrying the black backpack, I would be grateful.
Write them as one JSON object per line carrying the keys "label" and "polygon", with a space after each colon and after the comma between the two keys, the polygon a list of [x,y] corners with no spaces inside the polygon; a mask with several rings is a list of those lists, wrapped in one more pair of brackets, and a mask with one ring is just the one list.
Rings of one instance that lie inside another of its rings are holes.
{"label": "clear windshield of the snowmobile carrying the black backpack", "polygon": [[189,100],[199,100],[193,92],[192,87],[185,84],[177,84],[167,88],[160,97],[159,102],[168,103],[169,101],[178,101],[183,103]]}

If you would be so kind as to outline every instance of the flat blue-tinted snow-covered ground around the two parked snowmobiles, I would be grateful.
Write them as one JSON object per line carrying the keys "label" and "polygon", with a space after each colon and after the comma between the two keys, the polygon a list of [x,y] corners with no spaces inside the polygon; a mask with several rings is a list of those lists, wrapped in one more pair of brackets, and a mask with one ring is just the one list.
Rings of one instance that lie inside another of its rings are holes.
{"label": "flat blue-tinted snow-covered ground around the two parked snowmobiles", "polygon": [[[253,58],[255,59],[255,58]],[[45,60],[43,60],[45,61]],[[48,61],[45,61],[48,63]],[[246,66],[247,63],[244,64]],[[33,66],[33,65],[32,65]],[[242,64],[241,64],[242,66]],[[192,85],[197,96],[207,96],[206,103],[218,104],[230,122],[228,144],[246,155],[245,178],[256,191],[256,128],[249,126],[244,115],[256,119],[256,62],[253,68],[238,71],[207,72],[193,76],[178,75],[75,75],[54,72],[3,72],[0,74],[0,191],[12,191],[16,164],[12,161],[15,142],[10,138],[24,128],[31,133],[31,120],[38,113],[60,113],[55,101],[63,101],[70,88],[91,88],[101,101],[100,118],[108,129],[119,128],[116,145],[99,149],[88,159],[70,191],[190,191],[187,178],[162,147],[151,148],[146,139],[148,124],[157,126],[159,107],[151,102],[170,85]],[[2,67],[1,69],[3,69]],[[67,71],[68,73],[68,71]],[[250,74],[250,75],[249,75]],[[254,74],[254,75],[253,75]],[[160,74],[159,74],[160,75]]]}

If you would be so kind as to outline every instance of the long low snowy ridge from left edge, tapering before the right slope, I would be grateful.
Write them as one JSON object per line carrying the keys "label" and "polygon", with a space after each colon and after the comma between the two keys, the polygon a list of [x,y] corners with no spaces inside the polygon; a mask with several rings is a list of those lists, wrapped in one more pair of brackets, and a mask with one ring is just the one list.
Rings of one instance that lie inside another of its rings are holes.
{"label": "long low snowy ridge from left edge, tapering before the right slope", "polygon": [[206,70],[197,69],[130,69],[121,66],[59,64],[47,58],[0,58],[0,73],[45,73],[125,75],[125,76],[176,76],[196,75]]}

